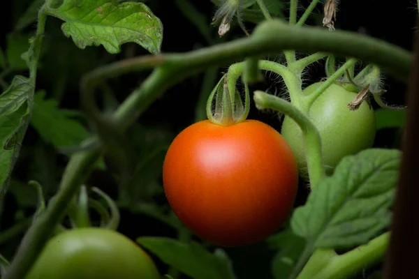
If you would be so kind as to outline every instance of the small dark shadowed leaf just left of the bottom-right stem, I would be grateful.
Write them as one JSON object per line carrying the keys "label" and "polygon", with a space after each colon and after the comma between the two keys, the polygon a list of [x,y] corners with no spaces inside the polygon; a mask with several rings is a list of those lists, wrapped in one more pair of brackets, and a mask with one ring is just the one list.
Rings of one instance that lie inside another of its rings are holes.
{"label": "small dark shadowed leaf just left of the bottom-right stem", "polygon": [[304,250],[306,241],[295,235],[291,229],[271,236],[270,246],[274,246],[279,251],[272,259],[272,276],[275,279],[288,278],[293,271],[293,267]]}

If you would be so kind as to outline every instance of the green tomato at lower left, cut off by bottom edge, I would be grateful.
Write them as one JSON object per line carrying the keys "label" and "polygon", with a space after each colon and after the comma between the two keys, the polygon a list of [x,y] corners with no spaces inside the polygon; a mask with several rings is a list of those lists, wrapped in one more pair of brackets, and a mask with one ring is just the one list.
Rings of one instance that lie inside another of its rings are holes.
{"label": "green tomato at lower left, cut off by bottom edge", "polygon": [[54,236],[26,279],[159,279],[152,259],[131,239],[100,227]]}

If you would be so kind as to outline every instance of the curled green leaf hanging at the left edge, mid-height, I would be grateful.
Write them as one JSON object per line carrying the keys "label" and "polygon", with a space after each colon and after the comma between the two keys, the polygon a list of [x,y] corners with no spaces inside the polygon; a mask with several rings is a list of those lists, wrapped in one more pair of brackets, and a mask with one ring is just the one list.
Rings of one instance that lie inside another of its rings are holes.
{"label": "curled green leaf hanging at the left edge, mid-height", "polygon": [[33,92],[34,86],[29,84],[27,77],[17,75],[0,95],[0,197],[6,194],[10,174],[29,125]]}

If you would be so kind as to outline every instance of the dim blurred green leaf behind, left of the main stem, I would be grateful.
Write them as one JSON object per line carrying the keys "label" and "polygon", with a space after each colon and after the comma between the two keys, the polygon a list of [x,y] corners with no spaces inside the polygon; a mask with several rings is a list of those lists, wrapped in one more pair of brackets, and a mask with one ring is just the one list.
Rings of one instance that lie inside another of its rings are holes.
{"label": "dim blurred green leaf behind, left of the main stem", "polygon": [[[56,148],[77,146],[90,135],[80,122],[68,117],[65,110],[59,109],[57,100],[46,100],[45,91],[38,91],[35,95],[31,126],[44,142]],[[99,161],[98,167],[105,168],[103,160]]]}

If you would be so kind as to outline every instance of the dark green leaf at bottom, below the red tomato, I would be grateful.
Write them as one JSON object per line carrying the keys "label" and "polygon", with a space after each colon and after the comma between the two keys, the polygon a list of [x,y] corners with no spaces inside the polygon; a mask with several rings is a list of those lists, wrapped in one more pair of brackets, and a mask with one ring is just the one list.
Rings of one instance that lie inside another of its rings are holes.
{"label": "dark green leaf at bottom, below the red tomato", "polygon": [[163,237],[140,237],[137,242],[191,278],[235,278],[230,259],[221,251],[212,254],[196,242],[188,244]]}

